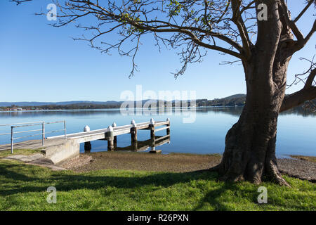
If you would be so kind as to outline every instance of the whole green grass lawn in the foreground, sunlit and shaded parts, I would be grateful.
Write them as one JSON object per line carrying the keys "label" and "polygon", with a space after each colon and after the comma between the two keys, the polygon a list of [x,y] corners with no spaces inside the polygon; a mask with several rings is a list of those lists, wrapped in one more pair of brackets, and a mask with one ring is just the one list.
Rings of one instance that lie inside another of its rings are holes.
{"label": "whole green grass lawn in the foreground, sunlit and shaded parts", "polygon": [[[259,205],[258,185],[217,181],[211,172],[53,172],[0,160],[0,210],[316,210],[316,184],[284,178],[292,188],[260,185],[268,204]],[[46,202],[48,186],[56,204]]]}

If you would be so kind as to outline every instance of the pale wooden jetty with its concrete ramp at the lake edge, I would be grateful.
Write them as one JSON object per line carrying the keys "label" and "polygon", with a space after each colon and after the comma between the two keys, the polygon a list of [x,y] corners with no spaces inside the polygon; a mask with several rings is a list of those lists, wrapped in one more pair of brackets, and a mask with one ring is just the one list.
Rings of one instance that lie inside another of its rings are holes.
{"label": "pale wooden jetty with its concrete ramp at the lake edge", "polygon": [[[150,138],[155,141],[155,133],[166,129],[166,136],[170,136],[170,120],[157,121],[153,119],[150,122],[141,122],[136,124],[134,120],[131,124],[117,127],[115,123],[105,129],[92,130],[86,126],[84,132],[67,134],[61,136],[51,136],[41,142],[40,140],[22,141],[14,143],[15,149],[40,149],[42,154],[35,154],[32,156],[25,155],[11,155],[7,159],[21,160],[23,162],[44,162],[53,165],[61,164],[66,160],[79,156],[80,143],[85,143],[89,146],[90,141],[105,140],[107,141],[108,150],[114,150],[117,146],[117,136],[121,134],[131,134],[131,146],[138,145],[137,131],[140,129],[150,130]],[[157,139],[157,141],[160,141]],[[42,143],[45,143],[42,146]],[[91,148],[91,144],[90,144]],[[1,145],[1,150],[10,150],[11,144]],[[33,157],[33,158],[32,158]]]}

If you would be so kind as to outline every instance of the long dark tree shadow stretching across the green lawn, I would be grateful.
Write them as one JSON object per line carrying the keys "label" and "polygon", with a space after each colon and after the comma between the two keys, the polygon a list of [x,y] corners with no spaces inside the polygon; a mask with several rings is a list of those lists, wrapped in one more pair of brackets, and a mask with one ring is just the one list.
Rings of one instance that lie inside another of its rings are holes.
{"label": "long dark tree shadow stretching across the green lawn", "polygon": [[[43,192],[48,186],[55,186],[58,191],[74,191],[81,189],[98,190],[107,186],[114,188],[144,188],[145,191],[153,191],[161,187],[169,187],[174,184],[190,183],[191,181],[213,181],[214,189],[206,191],[204,198],[197,203],[194,210],[203,210],[204,205],[212,205],[216,210],[230,210],[223,204],[220,196],[225,191],[240,191],[233,183],[218,183],[218,174],[207,170],[185,173],[154,173],[149,175],[126,174],[126,176],[94,175],[93,173],[69,174],[69,172],[48,172],[43,176],[38,167],[24,164],[0,164],[0,178],[10,179],[11,186],[0,188],[1,196],[16,193]],[[146,189],[147,188],[147,189]],[[203,187],[201,187],[203,189]],[[143,191],[144,191],[143,190]],[[108,193],[107,193],[108,194]]]}

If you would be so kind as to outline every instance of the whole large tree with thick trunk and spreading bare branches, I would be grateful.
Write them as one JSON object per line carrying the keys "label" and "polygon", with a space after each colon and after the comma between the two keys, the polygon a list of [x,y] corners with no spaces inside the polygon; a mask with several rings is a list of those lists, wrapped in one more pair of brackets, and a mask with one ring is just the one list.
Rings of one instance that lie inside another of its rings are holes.
{"label": "whole large tree with thick trunk and spreading bare branches", "polygon": [[[31,0],[12,1],[20,4]],[[292,19],[284,0],[57,1],[58,23],[53,26],[77,23],[77,27],[91,30],[91,37],[80,39],[100,51],[117,49],[122,56],[131,56],[131,75],[137,70],[135,56],[145,34],[152,34],[159,48],[169,45],[181,49],[183,67],[176,77],[209,50],[237,58],[244,67],[246,104],[226,135],[223,160],[213,170],[224,180],[261,183],[268,179],[288,185],[277,169],[277,117],[283,110],[316,97],[313,67],[305,77],[304,88],[284,98],[291,56],[316,30],[314,19],[306,36],[296,26],[315,1],[305,3]],[[84,21],[90,24],[81,25]],[[110,32],[121,38],[115,43],[103,41]],[[134,45],[126,50],[124,43],[129,40]]]}

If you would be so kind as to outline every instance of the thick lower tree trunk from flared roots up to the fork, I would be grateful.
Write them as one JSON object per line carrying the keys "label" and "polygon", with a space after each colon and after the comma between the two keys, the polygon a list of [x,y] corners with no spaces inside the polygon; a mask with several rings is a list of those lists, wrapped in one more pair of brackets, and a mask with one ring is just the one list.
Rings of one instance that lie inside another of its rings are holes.
{"label": "thick lower tree trunk from flared roots up to the fork", "polygon": [[275,142],[289,59],[278,62],[277,70],[272,70],[270,75],[260,59],[254,57],[254,61],[246,65],[246,104],[238,122],[226,135],[218,172],[224,180],[259,184],[265,178],[288,186],[277,169]]}

